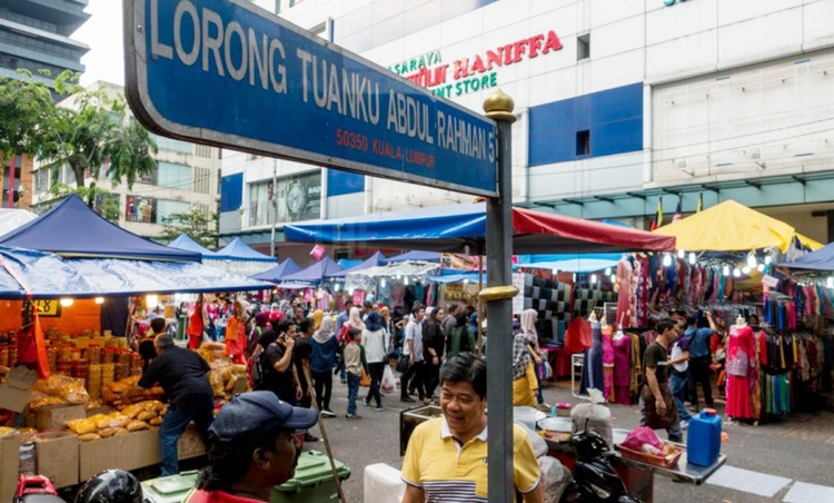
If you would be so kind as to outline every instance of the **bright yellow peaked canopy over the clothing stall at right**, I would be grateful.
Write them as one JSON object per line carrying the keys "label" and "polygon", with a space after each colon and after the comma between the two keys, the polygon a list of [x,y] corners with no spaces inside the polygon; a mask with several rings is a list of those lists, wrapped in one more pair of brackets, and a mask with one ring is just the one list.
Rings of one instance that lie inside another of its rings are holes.
{"label": "bright yellow peaked canopy over the clothing stall at right", "polygon": [[677,249],[686,251],[747,251],[778,248],[787,251],[794,237],[811,248],[823,245],[776,218],[727,200],[655,230],[675,236]]}

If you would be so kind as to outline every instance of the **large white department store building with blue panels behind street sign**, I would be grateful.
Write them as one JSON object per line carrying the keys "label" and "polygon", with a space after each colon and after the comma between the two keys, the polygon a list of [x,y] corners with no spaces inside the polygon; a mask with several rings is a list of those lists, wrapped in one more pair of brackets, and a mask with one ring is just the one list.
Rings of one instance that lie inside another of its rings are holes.
{"label": "large white department store building with blue panels behind street sign", "polygon": [[[516,205],[642,227],[659,200],[668,218],[735,199],[834,237],[834,1],[255,3],[473,110],[512,96]],[[227,152],[220,230],[471,199]]]}

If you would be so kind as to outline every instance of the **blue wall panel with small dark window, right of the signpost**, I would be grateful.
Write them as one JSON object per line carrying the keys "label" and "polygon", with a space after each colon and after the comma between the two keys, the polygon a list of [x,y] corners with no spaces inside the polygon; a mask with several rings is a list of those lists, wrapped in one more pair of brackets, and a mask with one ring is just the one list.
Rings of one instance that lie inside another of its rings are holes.
{"label": "blue wall panel with small dark window, right of the signpost", "polygon": [[[643,149],[643,83],[530,108],[530,166]],[[576,134],[587,130],[590,154],[578,155]]]}

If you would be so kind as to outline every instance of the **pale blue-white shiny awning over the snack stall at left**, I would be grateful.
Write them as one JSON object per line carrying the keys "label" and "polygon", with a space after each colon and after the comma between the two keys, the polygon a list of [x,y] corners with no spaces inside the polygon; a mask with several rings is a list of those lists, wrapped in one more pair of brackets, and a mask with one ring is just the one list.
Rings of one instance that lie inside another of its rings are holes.
{"label": "pale blue-white shiny awning over the snack stall at left", "polygon": [[0,246],[0,298],[89,298],[268,289],[272,285],[196,262],[67,259],[59,255]]}

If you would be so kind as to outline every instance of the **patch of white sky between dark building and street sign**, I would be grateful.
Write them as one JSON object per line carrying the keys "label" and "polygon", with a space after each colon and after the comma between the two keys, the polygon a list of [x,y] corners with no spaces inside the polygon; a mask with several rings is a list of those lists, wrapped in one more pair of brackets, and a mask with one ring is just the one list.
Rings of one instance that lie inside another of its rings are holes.
{"label": "patch of white sky between dark building and street sign", "polygon": [[81,85],[97,80],[125,85],[125,50],[121,0],[89,0],[86,12],[91,17],[72,36],[90,47],[81,58],[86,70]]}

